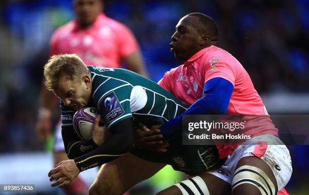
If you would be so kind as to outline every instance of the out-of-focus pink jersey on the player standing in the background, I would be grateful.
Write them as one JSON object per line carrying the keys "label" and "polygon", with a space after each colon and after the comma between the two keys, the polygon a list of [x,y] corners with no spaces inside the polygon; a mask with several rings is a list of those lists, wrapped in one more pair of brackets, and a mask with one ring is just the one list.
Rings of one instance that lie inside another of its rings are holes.
{"label": "out-of-focus pink jersey on the player standing in the background", "polygon": [[88,28],[71,21],[55,31],[51,55],[77,54],[85,64],[120,68],[124,57],[138,50],[132,32],[123,24],[99,14]]}

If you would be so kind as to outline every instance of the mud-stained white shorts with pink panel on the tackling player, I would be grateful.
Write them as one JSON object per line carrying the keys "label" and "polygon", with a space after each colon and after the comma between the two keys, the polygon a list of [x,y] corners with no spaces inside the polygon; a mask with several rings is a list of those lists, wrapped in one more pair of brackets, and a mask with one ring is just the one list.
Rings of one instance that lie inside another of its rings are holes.
{"label": "mud-stained white shorts with pink panel on the tackling player", "polygon": [[[265,142],[264,142],[265,141]],[[267,163],[273,171],[280,191],[290,180],[292,162],[289,150],[284,143],[274,135],[259,135],[239,145],[228,156],[224,165],[216,171],[209,172],[232,184],[235,168],[243,157],[255,156]]]}

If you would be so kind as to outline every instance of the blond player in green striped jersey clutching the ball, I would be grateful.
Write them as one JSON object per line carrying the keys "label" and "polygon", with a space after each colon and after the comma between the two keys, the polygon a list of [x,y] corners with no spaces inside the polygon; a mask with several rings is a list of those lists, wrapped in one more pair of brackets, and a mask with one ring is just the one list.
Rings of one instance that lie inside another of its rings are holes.
{"label": "blond player in green striped jersey clutching the ball", "polygon": [[[115,159],[116,162],[103,166],[97,175],[95,183],[102,187],[90,187],[89,194],[124,193],[166,164],[189,175],[198,175],[217,165],[218,153],[214,147],[184,146],[181,135],[169,140],[166,153],[134,147],[135,128],[162,125],[187,108],[157,83],[125,69],[87,67],[74,54],[50,58],[44,66],[44,76],[47,89],[61,99],[62,136],[66,153],[72,159],[59,163],[48,173],[50,181],[56,180],[52,186],[66,186],[80,171]],[[83,107],[98,109],[111,133],[107,139],[104,140],[102,133],[104,127],[98,126],[100,116],[96,118],[92,139],[83,141],[78,137],[72,117]],[[103,175],[119,183],[109,185],[113,189],[106,191],[107,184],[99,182]]]}

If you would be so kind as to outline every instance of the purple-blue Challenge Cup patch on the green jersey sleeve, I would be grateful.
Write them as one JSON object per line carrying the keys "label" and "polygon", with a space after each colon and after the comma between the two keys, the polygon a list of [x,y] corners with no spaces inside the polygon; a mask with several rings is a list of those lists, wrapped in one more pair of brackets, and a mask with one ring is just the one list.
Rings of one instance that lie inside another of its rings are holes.
{"label": "purple-blue Challenge Cup patch on the green jersey sleeve", "polygon": [[114,91],[103,98],[100,108],[104,109],[102,112],[106,122],[113,121],[125,113]]}

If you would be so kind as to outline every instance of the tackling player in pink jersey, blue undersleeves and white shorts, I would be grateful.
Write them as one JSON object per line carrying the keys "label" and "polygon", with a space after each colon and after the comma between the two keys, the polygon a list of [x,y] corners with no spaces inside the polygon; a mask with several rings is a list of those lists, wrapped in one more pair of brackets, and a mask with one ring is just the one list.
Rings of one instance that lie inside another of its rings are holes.
{"label": "tackling player in pink jersey, blue undersleeves and white shorts", "polygon": [[[172,36],[171,51],[183,65],[167,72],[159,84],[191,105],[182,115],[160,127],[169,139],[182,129],[183,115],[261,115],[259,126],[246,129],[251,139],[237,145],[217,145],[226,158],[217,171],[175,184],[158,194],[288,194],[283,188],[292,173],[288,149],[278,138],[266,108],[242,65],[218,47],[218,27],[213,19],[192,13],[183,17]],[[258,141],[258,140],[269,140]],[[153,140],[152,140],[153,141]]]}

